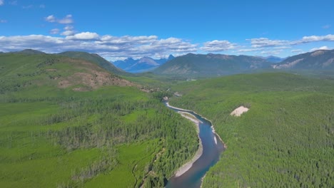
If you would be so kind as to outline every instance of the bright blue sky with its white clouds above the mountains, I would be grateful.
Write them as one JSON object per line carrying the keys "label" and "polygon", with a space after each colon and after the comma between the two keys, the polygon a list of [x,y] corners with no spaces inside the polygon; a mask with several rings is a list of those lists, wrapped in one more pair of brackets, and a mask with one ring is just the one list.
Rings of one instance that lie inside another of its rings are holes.
{"label": "bright blue sky with its white clouds above the mountains", "polygon": [[333,0],[0,0],[0,51],[293,56],[334,48],[333,9]]}

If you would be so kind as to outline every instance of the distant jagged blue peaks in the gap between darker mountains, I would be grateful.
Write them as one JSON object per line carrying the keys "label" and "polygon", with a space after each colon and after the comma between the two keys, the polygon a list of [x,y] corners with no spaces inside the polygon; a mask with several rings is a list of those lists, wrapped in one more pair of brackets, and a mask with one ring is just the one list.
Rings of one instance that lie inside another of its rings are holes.
{"label": "distant jagged blue peaks in the gap between darker mountains", "polygon": [[143,57],[140,59],[126,58],[123,61],[114,61],[114,66],[121,68],[123,71],[129,73],[143,73],[147,71],[152,71],[154,68],[161,66],[167,61],[171,61],[174,56],[169,55],[168,58],[153,59],[149,57]]}

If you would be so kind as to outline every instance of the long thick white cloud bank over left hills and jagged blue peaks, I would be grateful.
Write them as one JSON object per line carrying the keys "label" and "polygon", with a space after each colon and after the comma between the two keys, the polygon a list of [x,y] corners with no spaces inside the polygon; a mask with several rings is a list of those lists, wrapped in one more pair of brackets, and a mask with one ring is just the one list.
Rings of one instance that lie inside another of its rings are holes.
{"label": "long thick white cloud bank over left hills and jagged blue peaks", "polygon": [[34,48],[47,53],[62,51],[87,51],[105,58],[161,57],[166,54],[196,52],[198,45],[181,38],[158,38],[157,36],[99,36],[83,32],[73,36],[0,36],[0,51],[20,51]]}

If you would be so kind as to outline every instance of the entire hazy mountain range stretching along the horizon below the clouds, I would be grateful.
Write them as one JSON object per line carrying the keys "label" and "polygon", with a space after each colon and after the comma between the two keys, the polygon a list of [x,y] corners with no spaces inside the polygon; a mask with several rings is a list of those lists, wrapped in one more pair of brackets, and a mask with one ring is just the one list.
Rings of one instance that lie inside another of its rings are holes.
{"label": "entire hazy mountain range stretching along the horizon below the clouds", "polygon": [[[26,49],[24,51],[11,52],[13,54],[50,55],[41,51]],[[1,53],[6,54],[6,53]],[[155,60],[149,57],[140,59],[127,58],[124,61],[110,63],[96,53],[79,51],[66,51],[54,53],[56,56],[81,59],[95,63],[115,75],[131,75],[152,71],[157,75],[181,75],[191,77],[231,75],[236,73],[251,73],[263,70],[323,70],[334,71],[334,50],[319,50],[302,53],[288,58],[275,56],[231,56],[222,54],[193,54],[184,56],[169,56]],[[274,61],[281,61],[274,63]],[[122,70],[123,69],[123,70]],[[128,73],[131,72],[131,73]]]}

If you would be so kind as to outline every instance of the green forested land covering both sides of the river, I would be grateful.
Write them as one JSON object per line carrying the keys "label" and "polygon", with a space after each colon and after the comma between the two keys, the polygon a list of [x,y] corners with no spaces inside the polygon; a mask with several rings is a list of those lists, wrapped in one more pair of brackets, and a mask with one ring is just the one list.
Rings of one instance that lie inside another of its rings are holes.
{"label": "green forested land covering both sides of the river", "polygon": [[[330,78],[186,81],[124,73],[89,53],[1,53],[0,187],[165,186],[198,149],[194,125],[161,103],[171,91],[227,145],[203,187],[331,187]],[[250,110],[232,117],[240,105]]]}

